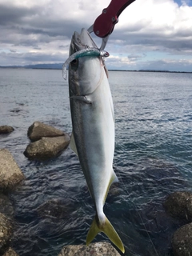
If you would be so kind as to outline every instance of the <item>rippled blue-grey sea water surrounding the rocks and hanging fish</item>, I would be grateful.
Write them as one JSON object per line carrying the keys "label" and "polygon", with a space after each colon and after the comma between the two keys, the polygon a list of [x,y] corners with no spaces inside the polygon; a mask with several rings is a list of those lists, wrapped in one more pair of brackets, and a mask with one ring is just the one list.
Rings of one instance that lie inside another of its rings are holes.
{"label": "rippled blue-grey sea water surrounding the rocks and hanging fish", "polygon": [[[94,217],[78,159],[67,149],[46,162],[23,155],[34,121],[71,132],[67,82],[62,70],[0,69],[0,147],[14,155],[26,176],[10,198],[14,203],[14,250],[20,256],[56,256],[62,246],[84,243]],[[192,186],[192,74],[110,72],[116,147],[105,213],[126,246],[126,255],[172,255],[171,236],[182,225],[166,215],[162,202]],[[48,200],[60,214],[39,211]],[[147,232],[146,232],[147,230]],[[95,241],[107,240],[98,234]]]}

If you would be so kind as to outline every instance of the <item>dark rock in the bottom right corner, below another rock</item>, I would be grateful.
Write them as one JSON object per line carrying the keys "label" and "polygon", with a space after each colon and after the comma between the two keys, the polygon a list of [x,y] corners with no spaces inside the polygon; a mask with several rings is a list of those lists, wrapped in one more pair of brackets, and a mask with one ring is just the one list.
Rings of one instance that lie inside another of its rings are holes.
{"label": "dark rock in the bottom right corner, below another rock", "polygon": [[175,256],[192,255],[192,223],[179,228],[172,239]]}

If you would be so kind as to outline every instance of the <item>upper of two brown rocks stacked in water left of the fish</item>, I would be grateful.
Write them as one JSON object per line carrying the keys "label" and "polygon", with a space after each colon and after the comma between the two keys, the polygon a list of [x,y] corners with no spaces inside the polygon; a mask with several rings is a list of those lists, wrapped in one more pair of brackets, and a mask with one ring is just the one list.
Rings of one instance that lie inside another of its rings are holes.
{"label": "upper of two brown rocks stacked in water left of the fish", "polygon": [[42,122],[34,122],[27,132],[27,136],[32,142],[36,142],[42,137],[58,137],[63,135],[62,130],[58,130],[53,126],[47,126]]}

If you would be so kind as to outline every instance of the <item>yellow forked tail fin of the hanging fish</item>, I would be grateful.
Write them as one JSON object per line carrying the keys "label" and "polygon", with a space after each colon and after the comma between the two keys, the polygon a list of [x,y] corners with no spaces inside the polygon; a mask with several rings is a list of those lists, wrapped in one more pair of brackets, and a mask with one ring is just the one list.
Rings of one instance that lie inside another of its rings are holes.
{"label": "yellow forked tail fin of the hanging fish", "polygon": [[100,223],[97,215],[94,217],[94,221],[92,222],[90,230],[86,236],[86,246],[89,246],[90,242],[94,240],[99,232],[106,234],[106,236],[110,238],[110,241],[113,242],[123,254],[125,253],[122,240],[119,238],[118,233],[114,230],[114,227],[111,225],[108,218],[106,218],[104,223]]}

